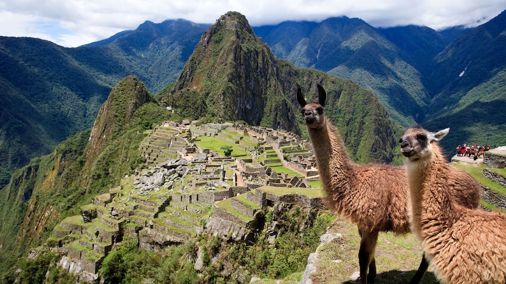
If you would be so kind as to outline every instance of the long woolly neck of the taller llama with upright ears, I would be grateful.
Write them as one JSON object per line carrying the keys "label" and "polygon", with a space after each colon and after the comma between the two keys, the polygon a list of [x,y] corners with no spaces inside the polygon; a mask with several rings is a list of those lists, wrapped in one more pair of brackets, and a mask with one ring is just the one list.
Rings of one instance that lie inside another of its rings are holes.
{"label": "long woolly neck of the taller llama with upright ears", "polygon": [[323,188],[327,192],[335,191],[337,188],[331,186],[330,179],[349,178],[353,165],[344,147],[343,138],[327,118],[321,127],[308,128],[308,133]]}

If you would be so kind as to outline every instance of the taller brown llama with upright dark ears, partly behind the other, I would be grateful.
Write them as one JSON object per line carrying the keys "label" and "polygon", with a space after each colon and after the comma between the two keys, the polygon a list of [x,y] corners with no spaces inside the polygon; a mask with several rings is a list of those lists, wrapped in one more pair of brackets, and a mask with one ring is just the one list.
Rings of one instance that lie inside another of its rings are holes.
{"label": "taller brown llama with upright dark ears, partly behind the other", "polygon": [[[326,92],[321,85],[317,87],[319,103],[306,103],[301,88],[297,91],[297,100],[313,145],[327,204],[336,214],[357,224],[361,238],[358,253],[360,281],[362,284],[373,282],[378,233],[391,231],[405,234],[411,230],[407,213],[406,168],[354,163],[346,151],[343,138],[323,114]],[[467,207],[478,207],[481,191],[478,182],[458,168],[449,170],[455,174],[452,182],[458,202]],[[467,189],[460,191],[460,188]],[[428,262],[423,257],[410,283],[419,283],[427,268]]]}

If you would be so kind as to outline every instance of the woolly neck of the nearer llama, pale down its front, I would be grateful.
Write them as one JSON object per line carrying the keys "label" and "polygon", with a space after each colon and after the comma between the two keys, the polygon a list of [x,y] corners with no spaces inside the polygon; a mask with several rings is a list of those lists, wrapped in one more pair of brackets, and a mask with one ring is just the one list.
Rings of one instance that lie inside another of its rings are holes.
{"label": "woolly neck of the nearer llama, pale down its front", "polygon": [[433,151],[430,159],[407,163],[411,222],[420,240],[439,233],[456,218],[443,170],[447,162],[437,145]]}

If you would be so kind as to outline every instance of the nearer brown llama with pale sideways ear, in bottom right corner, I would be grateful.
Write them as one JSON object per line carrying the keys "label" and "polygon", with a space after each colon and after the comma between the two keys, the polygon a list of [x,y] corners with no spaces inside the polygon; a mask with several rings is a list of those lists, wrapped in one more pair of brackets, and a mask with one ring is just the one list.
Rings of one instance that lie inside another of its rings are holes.
{"label": "nearer brown llama with pale sideways ear, in bottom right corner", "polygon": [[407,157],[413,231],[443,283],[506,283],[506,214],[469,209],[448,193],[448,166],[437,141],[449,128],[408,129]]}

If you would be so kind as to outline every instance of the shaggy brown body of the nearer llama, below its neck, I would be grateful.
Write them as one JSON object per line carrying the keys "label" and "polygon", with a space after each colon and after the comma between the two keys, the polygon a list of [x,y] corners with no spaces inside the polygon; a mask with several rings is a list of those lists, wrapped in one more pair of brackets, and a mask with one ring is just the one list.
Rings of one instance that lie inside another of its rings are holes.
{"label": "shaggy brown body of the nearer llama, below its neck", "polygon": [[445,283],[506,283],[506,215],[458,210],[449,229],[423,243],[436,276]]}

